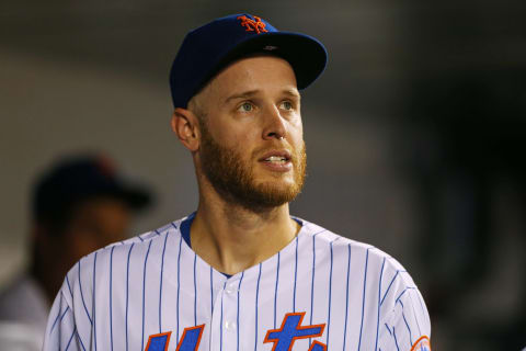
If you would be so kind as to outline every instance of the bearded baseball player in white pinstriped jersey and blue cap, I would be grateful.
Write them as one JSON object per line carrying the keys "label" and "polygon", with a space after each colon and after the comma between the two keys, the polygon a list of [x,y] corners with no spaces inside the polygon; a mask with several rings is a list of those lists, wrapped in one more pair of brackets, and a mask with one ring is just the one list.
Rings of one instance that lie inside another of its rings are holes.
{"label": "bearded baseball player in white pinstriped jersey and blue cap", "polygon": [[325,63],[316,38],[251,14],[186,35],[172,128],[197,211],[81,259],[44,350],[431,350],[425,304],[395,259],[289,215],[306,168],[299,90]]}

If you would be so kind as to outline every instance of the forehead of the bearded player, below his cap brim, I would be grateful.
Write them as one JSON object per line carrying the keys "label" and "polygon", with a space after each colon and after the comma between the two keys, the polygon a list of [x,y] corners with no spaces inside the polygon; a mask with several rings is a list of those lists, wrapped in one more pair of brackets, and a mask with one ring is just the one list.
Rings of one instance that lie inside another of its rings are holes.
{"label": "forehead of the bearded player, below his cap brim", "polygon": [[272,94],[297,91],[296,76],[287,60],[270,55],[256,55],[233,61],[214,77],[199,94],[218,102],[232,93],[261,91]]}

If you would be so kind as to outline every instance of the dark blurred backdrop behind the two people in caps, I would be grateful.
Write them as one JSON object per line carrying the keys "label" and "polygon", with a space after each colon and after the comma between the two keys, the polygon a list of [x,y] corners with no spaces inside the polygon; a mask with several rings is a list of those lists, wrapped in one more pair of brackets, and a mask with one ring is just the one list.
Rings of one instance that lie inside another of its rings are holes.
{"label": "dark blurred backdrop behind the two people in caps", "polygon": [[[430,308],[435,350],[526,347],[526,3],[0,1],[0,285],[26,262],[30,185],[103,150],[152,185],[146,231],[191,213],[168,71],[187,30],[251,12],[321,39],[304,92],[293,213],[389,252]],[[306,57],[308,59],[308,57]]]}

